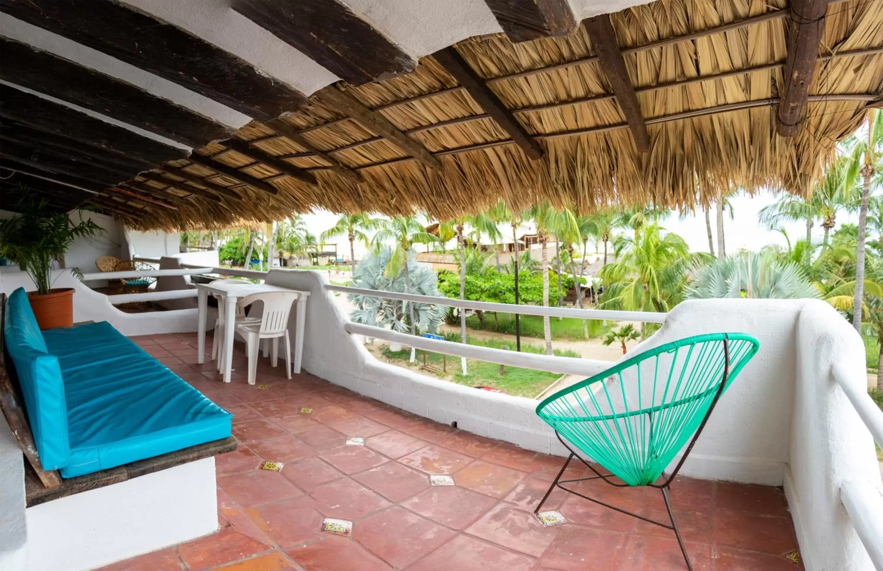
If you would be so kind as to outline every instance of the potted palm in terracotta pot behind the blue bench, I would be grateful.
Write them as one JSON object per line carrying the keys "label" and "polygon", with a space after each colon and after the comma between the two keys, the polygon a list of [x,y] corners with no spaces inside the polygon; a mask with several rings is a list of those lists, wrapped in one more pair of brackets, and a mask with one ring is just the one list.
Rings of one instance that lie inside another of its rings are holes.
{"label": "potted palm in terracotta pot behind the blue bench", "polygon": [[[44,200],[19,202],[20,214],[0,220],[0,256],[17,264],[36,286],[27,297],[41,329],[73,325],[73,289],[52,288],[52,263],[61,261],[74,240],[102,232],[92,219],[73,223],[66,212],[52,210]],[[73,268],[77,277],[79,269]]]}

